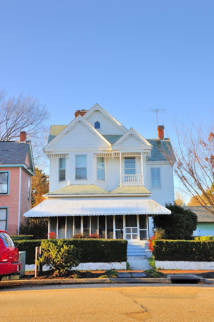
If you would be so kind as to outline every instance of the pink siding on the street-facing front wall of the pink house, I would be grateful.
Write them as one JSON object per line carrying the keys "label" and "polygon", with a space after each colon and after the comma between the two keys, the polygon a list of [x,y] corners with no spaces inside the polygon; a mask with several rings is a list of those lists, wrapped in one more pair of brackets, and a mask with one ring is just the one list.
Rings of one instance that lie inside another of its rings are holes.
{"label": "pink siding on the street-facing front wall of the pink house", "polygon": [[1,167],[1,171],[10,171],[9,194],[0,195],[0,207],[8,208],[8,233],[16,234],[19,212],[19,167]]}

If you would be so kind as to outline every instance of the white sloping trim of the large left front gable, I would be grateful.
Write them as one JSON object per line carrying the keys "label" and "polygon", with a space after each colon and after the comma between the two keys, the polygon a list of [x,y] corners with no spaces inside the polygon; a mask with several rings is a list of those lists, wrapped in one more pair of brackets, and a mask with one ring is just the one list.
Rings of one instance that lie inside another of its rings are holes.
{"label": "white sloping trim of the large left front gable", "polygon": [[65,133],[69,132],[72,128],[75,127],[75,125],[81,122],[84,124],[87,128],[89,128],[90,131],[95,133],[97,136],[99,136],[103,143],[107,144],[107,146],[111,146],[111,144],[95,129],[92,127],[92,125],[85,119],[83,118],[80,114],[71,121],[58,135],[56,135],[46,146],[45,148],[51,147],[55,142],[57,142]]}

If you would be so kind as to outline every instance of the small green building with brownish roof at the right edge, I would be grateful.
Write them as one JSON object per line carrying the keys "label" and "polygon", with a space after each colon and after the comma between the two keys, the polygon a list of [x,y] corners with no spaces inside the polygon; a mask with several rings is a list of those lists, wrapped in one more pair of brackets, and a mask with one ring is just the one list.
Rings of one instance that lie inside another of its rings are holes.
{"label": "small green building with brownish roof at the right edge", "polygon": [[182,206],[184,209],[190,209],[197,214],[198,226],[193,232],[193,236],[214,236],[214,214],[210,213],[202,206]]}

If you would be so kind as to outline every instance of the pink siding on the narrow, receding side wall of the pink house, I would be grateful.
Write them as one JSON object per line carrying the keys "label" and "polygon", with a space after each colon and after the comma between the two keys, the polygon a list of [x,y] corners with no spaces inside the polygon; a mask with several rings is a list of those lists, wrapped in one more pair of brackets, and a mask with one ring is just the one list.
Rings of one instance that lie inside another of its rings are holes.
{"label": "pink siding on the narrow, receding side wall of the pink house", "polygon": [[[28,178],[30,178],[30,199],[27,198],[28,193]],[[21,205],[20,205],[20,224],[25,223],[26,218],[23,217],[24,213],[31,209],[31,175],[27,174],[22,169],[22,182],[21,182]]]}

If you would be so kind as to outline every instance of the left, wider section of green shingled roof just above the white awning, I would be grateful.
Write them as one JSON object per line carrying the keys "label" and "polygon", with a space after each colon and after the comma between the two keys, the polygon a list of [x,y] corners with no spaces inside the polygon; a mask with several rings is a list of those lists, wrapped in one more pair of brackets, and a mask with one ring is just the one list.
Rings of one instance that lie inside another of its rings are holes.
{"label": "left, wider section of green shingled roof just above the white awning", "polygon": [[108,191],[97,185],[68,185],[67,187],[49,192],[52,194],[108,194]]}

